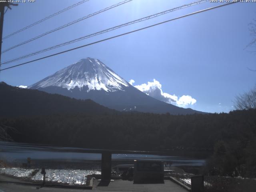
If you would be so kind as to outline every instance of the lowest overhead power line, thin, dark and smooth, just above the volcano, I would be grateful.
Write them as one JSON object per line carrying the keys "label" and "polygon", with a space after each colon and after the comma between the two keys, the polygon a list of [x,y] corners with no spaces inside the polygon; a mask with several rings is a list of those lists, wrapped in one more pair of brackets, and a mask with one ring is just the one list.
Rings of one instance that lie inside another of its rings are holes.
{"label": "lowest overhead power line, thin, dark and smooth, just above the volcano", "polygon": [[237,3],[237,2],[230,2],[230,3],[222,4],[222,5],[219,5],[219,6],[215,6],[215,7],[207,8],[207,9],[204,9],[204,10],[200,10],[200,11],[197,11],[197,12],[193,12],[193,13],[190,13],[190,14],[186,14],[186,15],[183,15],[183,16],[180,16],[180,17],[176,17],[174,19],[166,20],[164,22],[156,23],[156,24],[153,24],[153,25],[150,25],[150,26],[146,26],[146,27],[137,29],[137,30],[126,32],[126,33],[119,34],[119,35],[116,35],[116,36],[112,36],[110,38],[102,39],[102,40],[99,40],[99,41],[96,41],[96,42],[92,42],[92,43],[89,43],[89,44],[85,44],[85,45],[82,45],[82,46],[79,46],[79,47],[76,47],[76,48],[72,48],[72,49],[65,50],[65,51],[62,51],[62,52],[58,52],[58,53],[55,53],[55,54],[52,54],[52,55],[44,56],[44,57],[41,57],[41,58],[38,58],[38,59],[35,59],[35,60],[31,60],[31,61],[28,61],[28,62],[24,62],[24,63],[18,64],[18,65],[10,66],[10,67],[1,69],[0,71],[7,70],[7,69],[10,69],[10,68],[14,68],[14,67],[17,67],[17,66],[21,66],[21,65],[24,65],[24,64],[28,64],[28,63],[31,63],[31,62],[35,62],[35,61],[38,61],[38,60],[42,60],[42,59],[45,59],[45,58],[48,58],[48,57],[56,56],[56,55],[59,55],[59,54],[63,54],[63,53],[66,53],[66,52],[70,52],[72,50],[80,49],[82,47],[86,47],[86,46],[90,46],[90,45],[93,45],[93,44],[97,44],[97,43],[100,43],[100,42],[103,42],[103,41],[106,41],[106,40],[117,38],[117,37],[120,37],[120,36],[123,36],[123,35],[134,33],[134,32],[137,32],[137,31],[140,31],[140,30],[144,30],[144,29],[147,29],[147,28],[150,28],[150,27],[154,27],[154,26],[157,26],[157,25],[160,25],[160,24],[164,24],[164,23],[167,23],[167,22],[170,22],[170,21],[173,21],[173,20],[177,20],[177,19],[180,19],[180,18],[184,18],[184,17],[187,17],[187,16],[191,16],[191,15],[194,15],[194,14],[205,12],[205,11],[208,11],[208,10],[216,9],[216,8],[219,8],[219,7],[222,7],[222,6],[227,6],[227,5],[230,5],[230,4]]}

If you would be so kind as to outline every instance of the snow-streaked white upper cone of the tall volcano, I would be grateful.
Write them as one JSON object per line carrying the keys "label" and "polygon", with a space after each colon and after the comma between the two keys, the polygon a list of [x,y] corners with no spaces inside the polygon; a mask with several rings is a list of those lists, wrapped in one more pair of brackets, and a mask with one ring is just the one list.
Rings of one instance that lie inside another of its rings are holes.
{"label": "snow-streaked white upper cone of the tall volcano", "polygon": [[112,92],[123,90],[124,86],[127,87],[130,84],[100,60],[87,57],[57,71],[28,88],[38,89],[48,86],[58,86],[68,90],[72,90],[76,86],[82,90],[85,86],[88,86],[87,92],[90,90]]}

